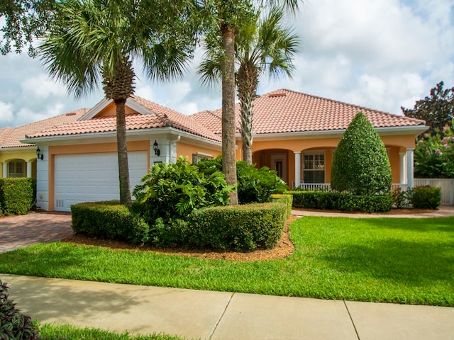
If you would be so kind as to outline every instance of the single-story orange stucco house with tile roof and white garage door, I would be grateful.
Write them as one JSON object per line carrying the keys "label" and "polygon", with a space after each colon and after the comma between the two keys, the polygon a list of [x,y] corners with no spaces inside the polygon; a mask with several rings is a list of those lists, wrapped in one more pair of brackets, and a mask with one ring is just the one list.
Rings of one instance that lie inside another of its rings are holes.
{"label": "single-story orange stucco house with tile roof and white garage door", "polygon": [[[236,110],[236,157],[242,159],[238,106]],[[369,118],[387,148],[393,183],[410,184],[414,138],[426,130],[423,120],[285,89],[255,100],[253,162],[275,169],[289,186],[329,183],[334,149],[358,111]],[[64,124],[17,132],[27,150],[6,147],[4,136],[11,136],[11,130],[0,130],[3,176],[15,174],[9,166],[13,159],[27,162],[26,169],[31,163],[26,175],[35,171],[37,205],[45,210],[69,211],[74,203],[119,197],[114,103],[103,100],[70,117],[74,120]],[[132,96],[126,102],[126,129],[131,188],[157,162],[175,162],[179,156],[197,162],[221,153],[221,110],[188,116]],[[25,150],[29,154],[21,157]],[[5,156],[8,152],[11,157]]]}

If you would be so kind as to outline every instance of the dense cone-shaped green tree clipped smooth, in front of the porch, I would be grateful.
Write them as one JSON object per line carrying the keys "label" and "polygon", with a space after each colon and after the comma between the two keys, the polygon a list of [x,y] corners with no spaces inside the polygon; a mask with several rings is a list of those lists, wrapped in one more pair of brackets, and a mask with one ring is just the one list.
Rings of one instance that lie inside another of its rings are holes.
{"label": "dense cone-shaped green tree clipped smooth, in front of the porch", "polygon": [[389,193],[391,184],[391,166],[383,142],[359,112],[334,153],[331,187],[354,195],[380,195]]}

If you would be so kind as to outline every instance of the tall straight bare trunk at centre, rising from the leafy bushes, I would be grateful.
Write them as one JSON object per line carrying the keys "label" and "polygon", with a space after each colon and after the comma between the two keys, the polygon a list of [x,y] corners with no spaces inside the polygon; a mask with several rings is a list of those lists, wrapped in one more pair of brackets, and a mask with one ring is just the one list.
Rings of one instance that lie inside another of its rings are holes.
{"label": "tall straight bare trunk at centre, rising from the leafy bushes", "polygon": [[[223,25],[222,45],[222,169],[228,185],[236,186],[235,125],[235,28]],[[230,204],[238,204],[238,191],[230,193]]]}

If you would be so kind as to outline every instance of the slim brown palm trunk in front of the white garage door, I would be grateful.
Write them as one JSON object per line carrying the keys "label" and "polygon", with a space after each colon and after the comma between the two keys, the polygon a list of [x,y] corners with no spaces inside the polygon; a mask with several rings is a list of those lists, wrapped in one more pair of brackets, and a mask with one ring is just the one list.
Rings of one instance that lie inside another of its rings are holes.
{"label": "slim brown palm trunk in front of the white garage door", "polygon": [[129,183],[128,147],[126,145],[126,101],[116,101],[116,144],[118,151],[118,180],[120,181],[120,203],[131,207]]}

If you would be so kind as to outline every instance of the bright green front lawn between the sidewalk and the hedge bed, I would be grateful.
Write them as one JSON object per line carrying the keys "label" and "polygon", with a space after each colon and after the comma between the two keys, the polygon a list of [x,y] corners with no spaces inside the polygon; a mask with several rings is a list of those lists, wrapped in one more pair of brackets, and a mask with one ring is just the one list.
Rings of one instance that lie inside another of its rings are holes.
{"label": "bright green front lawn between the sidewalk and the hedge bed", "polygon": [[454,306],[454,217],[304,217],[292,256],[234,262],[55,242],[0,254],[0,273],[241,293]]}

